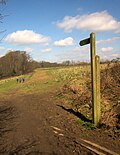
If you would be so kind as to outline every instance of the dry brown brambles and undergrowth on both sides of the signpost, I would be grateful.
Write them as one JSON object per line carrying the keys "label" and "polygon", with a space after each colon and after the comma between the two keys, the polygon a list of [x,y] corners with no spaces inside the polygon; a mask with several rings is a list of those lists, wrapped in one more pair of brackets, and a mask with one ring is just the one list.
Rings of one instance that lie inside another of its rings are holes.
{"label": "dry brown brambles and undergrowth on both sides of the signpost", "polygon": [[[102,66],[101,69],[101,123],[120,129],[120,63]],[[64,106],[91,119],[90,66],[66,67],[53,71],[58,81],[63,82],[58,95]]]}

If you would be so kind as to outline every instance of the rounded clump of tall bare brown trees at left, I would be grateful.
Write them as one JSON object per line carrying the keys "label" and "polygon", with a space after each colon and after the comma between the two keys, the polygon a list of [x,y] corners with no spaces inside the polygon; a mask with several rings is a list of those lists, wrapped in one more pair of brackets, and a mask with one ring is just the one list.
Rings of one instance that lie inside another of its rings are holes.
{"label": "rounded clump of tall bare brown trees at left", "polygon": [[0,78],[31,72],[37,67],[25,51],[9,51],[0,58]]}

